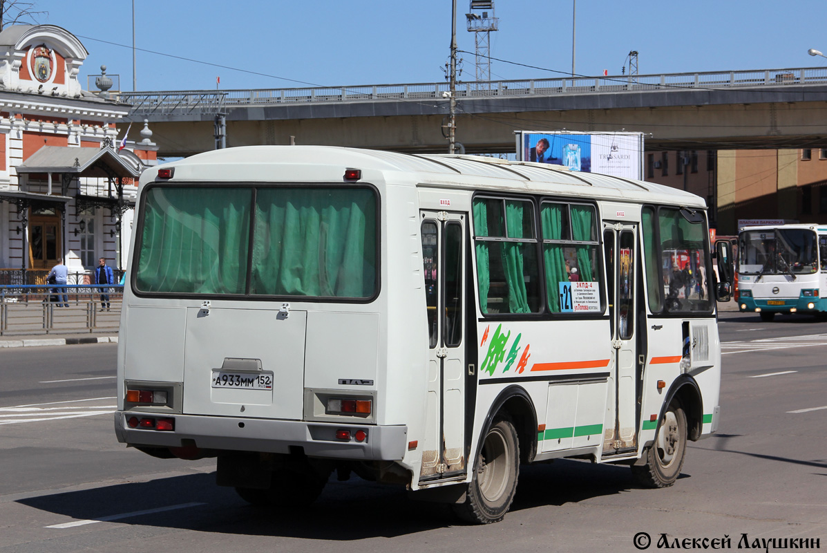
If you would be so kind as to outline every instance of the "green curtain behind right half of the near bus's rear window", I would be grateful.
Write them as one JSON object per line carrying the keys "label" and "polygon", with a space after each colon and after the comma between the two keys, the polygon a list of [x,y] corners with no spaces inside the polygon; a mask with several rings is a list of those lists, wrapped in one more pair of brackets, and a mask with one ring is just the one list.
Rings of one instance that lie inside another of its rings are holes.
{"label": "green curtain behind right half of the near bus's rear window", "polygon": [[366,189],[259,189],[251,294],[372,296],[375,211]]}

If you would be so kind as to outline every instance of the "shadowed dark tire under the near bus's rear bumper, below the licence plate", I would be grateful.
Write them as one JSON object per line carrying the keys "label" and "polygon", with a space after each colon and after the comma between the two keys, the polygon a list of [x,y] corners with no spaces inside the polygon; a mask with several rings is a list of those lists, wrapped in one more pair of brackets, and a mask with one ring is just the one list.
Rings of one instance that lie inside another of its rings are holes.
{"label": "shadowed dark tire under the near bus's rear bumper, below the licence plate", "polygon": [[270,488],[236,488],[236,493],[251,505],[274,509],[308,507],[322,495],[327,478],[294,470],[276,471]]}

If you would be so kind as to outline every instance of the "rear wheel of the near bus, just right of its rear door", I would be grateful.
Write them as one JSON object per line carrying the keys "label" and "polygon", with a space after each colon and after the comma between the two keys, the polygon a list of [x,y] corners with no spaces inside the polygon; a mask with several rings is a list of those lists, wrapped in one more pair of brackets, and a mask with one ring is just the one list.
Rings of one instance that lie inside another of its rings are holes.
{"label": "rear wheel of the near bus, just right of its rear door", "polygon": [[519,439],[508,418],[496,419],[489,428],[472,470],[466,500],[454,505],[454,512],[474,524],[500,522],[514,501],[519,478]]}

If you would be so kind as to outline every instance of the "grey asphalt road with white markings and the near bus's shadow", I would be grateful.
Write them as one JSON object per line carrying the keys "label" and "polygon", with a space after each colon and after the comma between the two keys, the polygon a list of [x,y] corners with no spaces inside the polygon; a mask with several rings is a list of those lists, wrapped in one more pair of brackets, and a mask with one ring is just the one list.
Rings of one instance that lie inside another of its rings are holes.
{"label": "grey asphalt road with white markings and the near bus's shadow", "polygon": [[214,485],[212,459],[117,443],[117,345],[0,351],[0,553],[638,551],[639,532],[648,551],[662,534],[672,546],[729,536],[722,548],[738,549],[746,534],[749,549],[771,538],[827,549],[827,322],[729,312],[719,328],[719,433],[691,443],[672,488],[639,488],[627,467],[523,466],[511,512],[486,527],[335,477],[308,510],[256,510]]}

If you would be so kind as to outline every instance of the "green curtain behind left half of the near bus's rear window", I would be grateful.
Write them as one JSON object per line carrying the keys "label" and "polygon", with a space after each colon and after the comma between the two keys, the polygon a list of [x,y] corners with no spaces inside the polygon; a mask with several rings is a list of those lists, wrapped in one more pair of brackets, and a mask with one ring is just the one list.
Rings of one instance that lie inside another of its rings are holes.
{"label": "green curtain behind left half of the near bus's rear window", "polygon": [[251,199],[241,188],[148,190],[138,290],[243,294]]}

